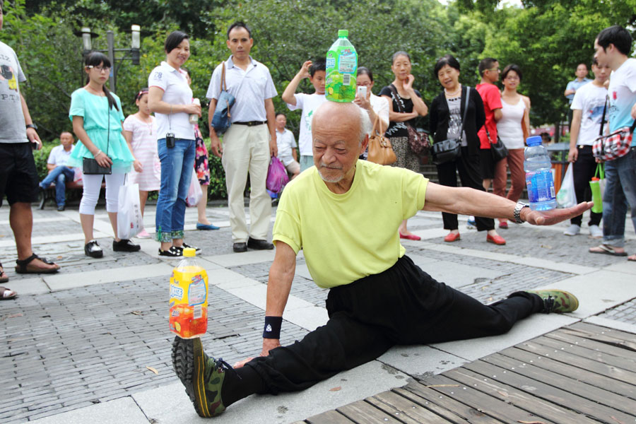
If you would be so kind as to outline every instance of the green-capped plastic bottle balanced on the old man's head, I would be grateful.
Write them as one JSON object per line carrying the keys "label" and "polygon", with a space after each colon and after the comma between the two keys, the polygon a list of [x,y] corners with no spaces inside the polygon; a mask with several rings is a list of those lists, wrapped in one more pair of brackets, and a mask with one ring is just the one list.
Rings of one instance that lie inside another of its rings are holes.
{"label": "green-capped plastic bottle balanced on the old man's head", "polygon": [[358,53],[347,39],[348,30],[338,30],[338,40],[329,47],[326,56],[325,95],[332,102],[353,102]]}

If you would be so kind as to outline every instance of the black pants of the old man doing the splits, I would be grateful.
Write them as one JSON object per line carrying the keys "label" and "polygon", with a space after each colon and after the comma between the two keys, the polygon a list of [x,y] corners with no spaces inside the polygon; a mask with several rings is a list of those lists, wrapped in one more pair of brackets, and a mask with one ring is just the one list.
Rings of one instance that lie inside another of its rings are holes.
{"label": "black pants of the old man doing the splits", "polygon": [[226,374],[225,379],[232,379],[233,393],[225,389],[224,382],[225,406],[226,399],[233,402],[253,393],[306,389],[374,360],[396,344],[503,334],[519,319],[543,310],[543,300],[516,292],[493,305],[483,305],[433,280],[405,256],[387,271],[332,288],[326,308],[329,322],[302,341],[254,358],[237,369],[240,380]]}

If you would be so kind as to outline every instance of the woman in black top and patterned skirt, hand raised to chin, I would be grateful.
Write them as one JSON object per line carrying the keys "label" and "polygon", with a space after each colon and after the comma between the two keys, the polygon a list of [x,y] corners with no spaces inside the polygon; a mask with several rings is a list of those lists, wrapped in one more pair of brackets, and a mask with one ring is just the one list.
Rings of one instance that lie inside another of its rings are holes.
{"label": "woman in black top and patterned skirt, hand raised to chin", "polygon": [[[408,126],[415,127],[417,117],[428,114],[428,107],[422,100],[422,95],[413,88],[415,77],[411,75],[411,57],[406,52],[396,52],[393,55],[391,71],[395,79],[390,86],[382,88],[380,95],[389,102],[389,128],[384,134],[391,141],[395,152],[396,162],[392,166],[404,167],[418,172],[420,158],[411,151],[408,143]],[[406,229],[406,220],[399,228],[400,238],[420,240]]]}

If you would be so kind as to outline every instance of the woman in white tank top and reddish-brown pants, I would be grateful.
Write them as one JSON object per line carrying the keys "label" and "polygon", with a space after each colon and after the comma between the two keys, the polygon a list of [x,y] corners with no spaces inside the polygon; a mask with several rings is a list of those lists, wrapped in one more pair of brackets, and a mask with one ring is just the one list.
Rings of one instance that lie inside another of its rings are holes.
{"label": "woman in white tank top and reddish-brown pants", "polygon": [[[495,165],[493,192],[498,196],[518,201],[524,190],[524,140],[529,136],[530,99],[517,93],[522,71],[517,65],[508,65],[501,73],[504,90],[501,93],[502,117],[497,121],[497,135],[508,149],[507,158]],[[507,169],[510,167],[510,190],[506,194]],[[505,218],[500,218],[499,228],[508,228]]]}

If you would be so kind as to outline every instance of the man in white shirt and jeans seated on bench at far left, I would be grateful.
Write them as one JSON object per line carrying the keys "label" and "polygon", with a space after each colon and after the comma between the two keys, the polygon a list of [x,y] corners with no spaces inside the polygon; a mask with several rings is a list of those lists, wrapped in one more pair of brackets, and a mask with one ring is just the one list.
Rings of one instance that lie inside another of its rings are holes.
{"label": "man in white shirt and jeans seated on bench at far left", "polygon": [[71,156],[73,150],[73,135],[69,131],[59,134],[59,146],[52,148],[47,160],[49,175],[42,179],[40,188],[48,189],[52,182],[55,183],[55,203],[57,210],[64,211],[66,204],[66,182],[73,181],[75,171],[72,167],[66,166],[66,161]]}

